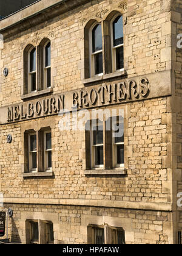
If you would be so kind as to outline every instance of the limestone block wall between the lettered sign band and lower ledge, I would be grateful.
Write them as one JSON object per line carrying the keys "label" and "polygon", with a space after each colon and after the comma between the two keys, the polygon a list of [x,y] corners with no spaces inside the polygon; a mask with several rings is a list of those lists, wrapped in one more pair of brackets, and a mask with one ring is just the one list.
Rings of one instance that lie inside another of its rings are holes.
{"label": "limestone block wall between the lettered sign band and lower ledge", "polygon": [[[5,197],[39,199],[89,199],[172,203],[171,169],[167,166],[170,127],[168,98],[149,99],[118,106],[124,110],[126,175],[86,176],[85,132],[59,130],[60,116],[1,126],[1,191]],[[113,107],[114,108],[114,107]],[[109,108],[111,110],[111,108]],[[55,177],[25,178],[25,127],[52,126],[53,172]],[[7,143],[7,135],[13,141]]]}

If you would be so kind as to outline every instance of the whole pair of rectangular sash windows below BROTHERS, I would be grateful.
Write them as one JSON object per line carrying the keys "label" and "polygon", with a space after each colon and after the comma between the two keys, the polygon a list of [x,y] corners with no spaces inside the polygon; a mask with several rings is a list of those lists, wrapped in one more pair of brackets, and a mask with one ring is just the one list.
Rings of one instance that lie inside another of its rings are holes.
{"label": "whole pair of rectangular sash windows below BROTHERS", "polygon": [[99,119],[87,121],[86,172],[87,170],[99,171],[99,169],[107,172],[115,169],[124,174],[123,116],[115,116],[107,121]]}

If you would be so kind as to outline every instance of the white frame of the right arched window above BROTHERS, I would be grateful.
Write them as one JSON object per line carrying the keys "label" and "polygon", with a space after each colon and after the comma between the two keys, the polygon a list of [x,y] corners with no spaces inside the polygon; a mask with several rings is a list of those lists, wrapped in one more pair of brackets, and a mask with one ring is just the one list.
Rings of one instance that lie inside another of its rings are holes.
{"label": "white frame of the right arched window above BROTHERS", "polygon": [[[123,44],[119,44],[117,46],[113,46],[113,22],[115,21],[115,19],[118,16],[123,16],[123,15],[116,15],[112,18],[112,20],[110,21],[110,33],[111,33],[111,48],[112,48],[112,72],[116,72],[116,71],[124,71],[124,68],[120,68],[120,69],[116,69],[116,49],[123,47],[123,51],[124,51],[124,41]],[[124,35],[123,35],[124,37]]]}

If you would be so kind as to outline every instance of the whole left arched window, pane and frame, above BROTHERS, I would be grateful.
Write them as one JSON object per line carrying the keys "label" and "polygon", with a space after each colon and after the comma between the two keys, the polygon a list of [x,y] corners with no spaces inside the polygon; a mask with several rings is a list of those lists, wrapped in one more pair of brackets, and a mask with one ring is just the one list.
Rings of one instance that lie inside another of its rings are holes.
{"label": "whole left arched window, pane and frame, above BROTHERS", "polygon": [[92,29],[90,40],[90,76],[103,74],[103,40],[101,24],[96,24]]}

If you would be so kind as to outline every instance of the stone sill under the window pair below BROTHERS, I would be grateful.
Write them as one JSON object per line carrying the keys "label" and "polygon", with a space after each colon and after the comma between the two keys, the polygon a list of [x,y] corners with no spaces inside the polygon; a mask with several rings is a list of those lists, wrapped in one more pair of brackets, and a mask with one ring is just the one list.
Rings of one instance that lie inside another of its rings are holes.
{"label": "stone sill under the window pair below BROTHERS", "polygon": [[115,168],[115,169],[92,169],[85,170],[85,175],[126,175],[126,169],[124,168]]}

